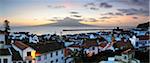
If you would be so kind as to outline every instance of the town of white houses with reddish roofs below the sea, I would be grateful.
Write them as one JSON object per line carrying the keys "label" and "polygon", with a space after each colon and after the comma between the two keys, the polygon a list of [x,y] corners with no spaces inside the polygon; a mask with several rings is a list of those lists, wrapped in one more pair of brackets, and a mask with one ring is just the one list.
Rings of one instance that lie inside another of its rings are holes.
{"label": "town of white houses with reddish roofs below the sea", "polygon": [[0,63],[145,63],[149,62],[149,31],[130,30],[80,34],[10,32],[0,30]]}

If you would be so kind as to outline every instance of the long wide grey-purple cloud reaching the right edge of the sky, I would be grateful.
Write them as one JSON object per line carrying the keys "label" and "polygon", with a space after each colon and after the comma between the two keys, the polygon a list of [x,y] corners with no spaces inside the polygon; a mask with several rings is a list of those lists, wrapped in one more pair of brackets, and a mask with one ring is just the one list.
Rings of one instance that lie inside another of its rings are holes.
{"label": "long wide grey-purple cloud reaching the right edge of the sky", "polygon": [[135,9],[135,8],[130,8],[130,9],[118,9],[118,11],[125,13],[126,15],[144,15],[144,16],[149,16],[149,11],[144,10],[142,8],[140,9]]}

